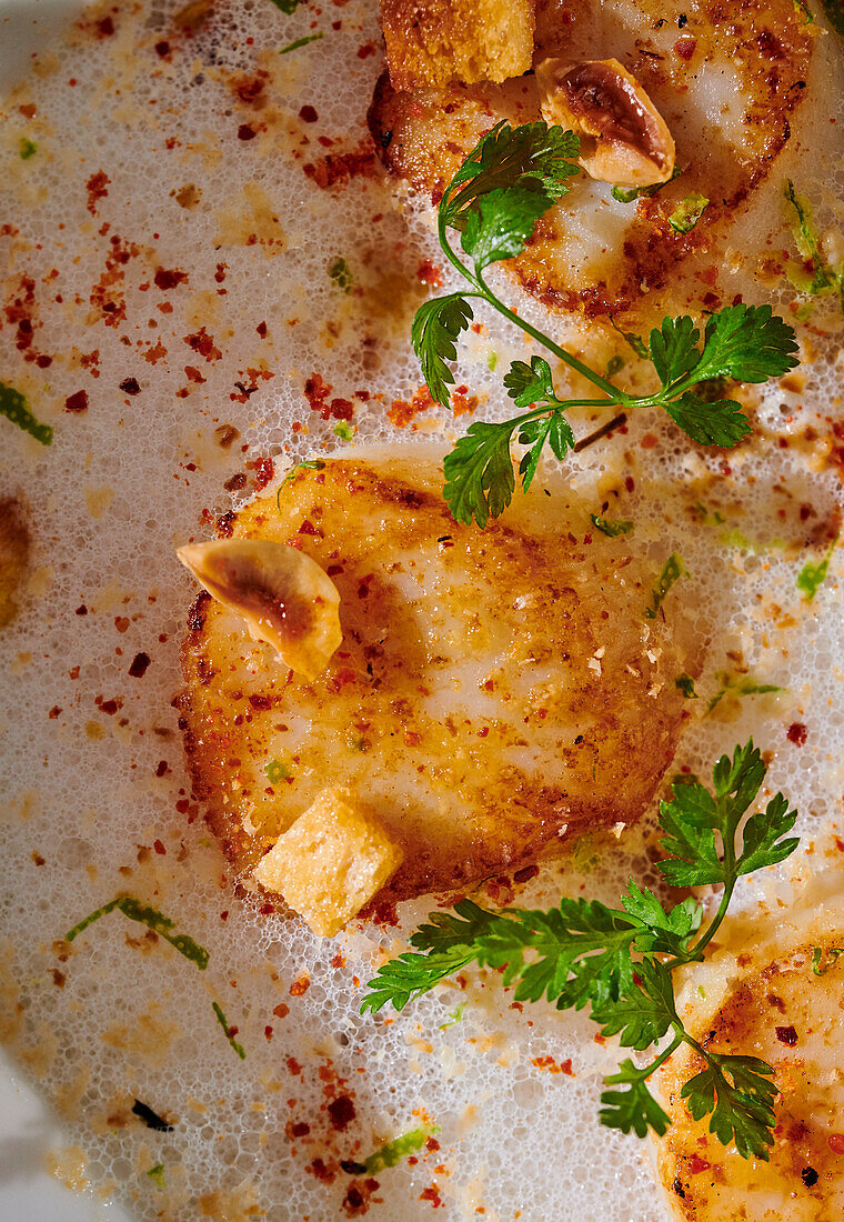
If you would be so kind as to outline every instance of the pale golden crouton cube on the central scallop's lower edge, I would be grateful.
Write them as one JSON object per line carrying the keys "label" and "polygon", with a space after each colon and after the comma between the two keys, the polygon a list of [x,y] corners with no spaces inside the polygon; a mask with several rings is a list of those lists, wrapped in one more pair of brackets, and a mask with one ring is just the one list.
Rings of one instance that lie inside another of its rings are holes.
{"label": "pale golden crouton cube on the central scallop's lower edge", "polygon": [[333,937],[399,866],[402,849],[346,789],[325,789],[258,863],[254,877],[277,891],[315,934]]}

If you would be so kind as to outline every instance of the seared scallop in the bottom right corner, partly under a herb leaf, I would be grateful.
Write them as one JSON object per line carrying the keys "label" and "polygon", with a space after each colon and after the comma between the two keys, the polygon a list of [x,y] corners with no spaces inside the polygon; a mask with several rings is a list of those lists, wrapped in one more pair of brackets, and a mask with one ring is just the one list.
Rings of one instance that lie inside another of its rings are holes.
{"label": "seared scallop in the bottom right corner, partly under a herb leaf", "polygon": [[844,904],[840,871],[793,909],[728,921],[722,949],[688,973],[679,1013],[713,1052],[761,1057],[779,1095],[769,1161],[743,1158],[693,1121],[682,1086],[704,1068],[675,1053],[661,1072],[672,1127],[657,1165],[685,1222],[838,1222],[844,1217]]}

